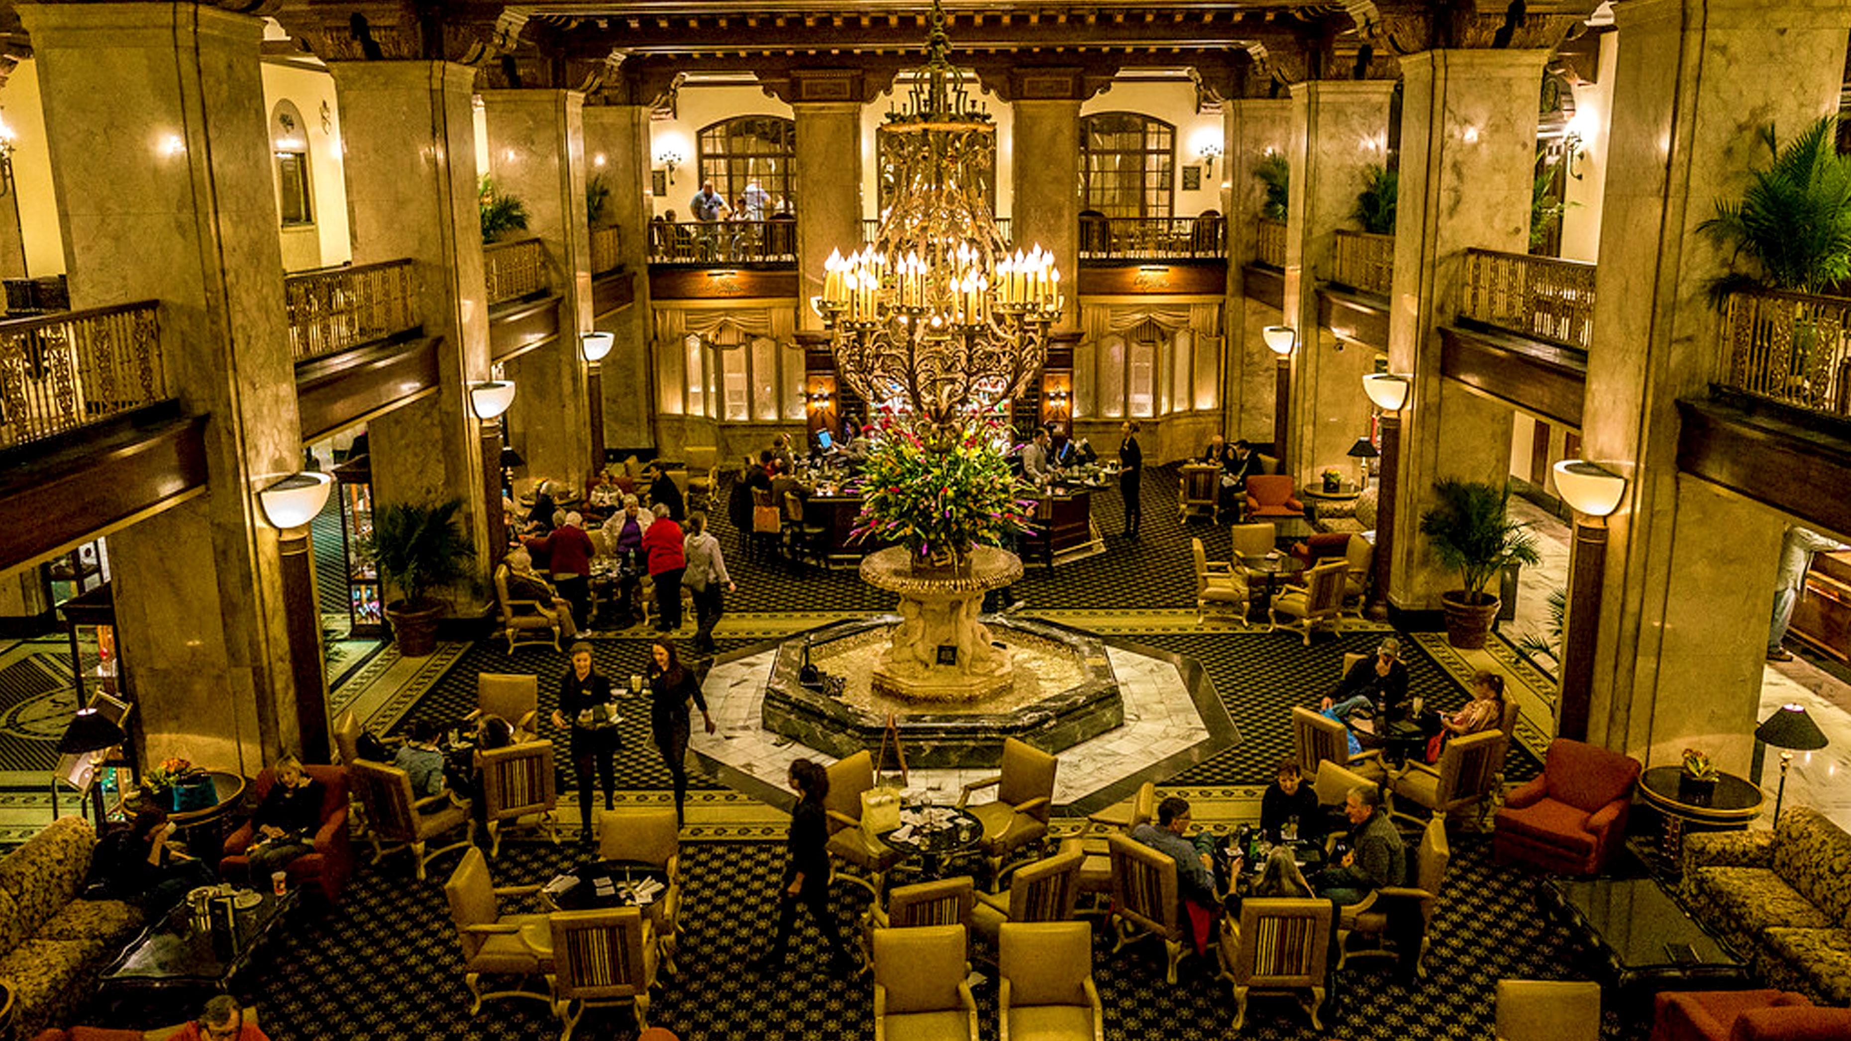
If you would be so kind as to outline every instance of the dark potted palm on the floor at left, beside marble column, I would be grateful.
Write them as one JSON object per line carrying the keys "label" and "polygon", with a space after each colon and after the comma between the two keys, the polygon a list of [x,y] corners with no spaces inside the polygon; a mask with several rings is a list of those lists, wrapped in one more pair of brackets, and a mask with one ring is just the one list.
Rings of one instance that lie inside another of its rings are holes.
{"label": "dark potted palm on the floor at left, beside marble column", "polygon": [[424,658],[437,650],[437,619],[442,600],[431,593],[468,578],[476,558],[468,535],[457,522],[463,502],[392,502],[372,515],[372,535],[365,552],[379,569],[379,578],[400,593],[385,606],[392,639],[404,658]]}

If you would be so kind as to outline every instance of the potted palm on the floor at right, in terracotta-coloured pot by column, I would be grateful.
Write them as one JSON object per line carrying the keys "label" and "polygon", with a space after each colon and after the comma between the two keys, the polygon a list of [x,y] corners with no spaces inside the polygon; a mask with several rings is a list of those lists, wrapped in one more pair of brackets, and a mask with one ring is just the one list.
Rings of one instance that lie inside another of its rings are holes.
{"label": "potted palm on the floor at right, in terracotta-coloured pot by column", "polygon": [[1510,565],[1536,565],[1536,533],[1522,520],[1510,520],[1510,483],[1462,482],[1447,478],[1433,485],[1438,504],[1420,515],[1420,533],[1447,569],[1457,571],[1464,587],[1440,595],[1446,611],[1446,639],[1453,646],[1477,650],[1497,617],[1497,595],[1486,587]]}

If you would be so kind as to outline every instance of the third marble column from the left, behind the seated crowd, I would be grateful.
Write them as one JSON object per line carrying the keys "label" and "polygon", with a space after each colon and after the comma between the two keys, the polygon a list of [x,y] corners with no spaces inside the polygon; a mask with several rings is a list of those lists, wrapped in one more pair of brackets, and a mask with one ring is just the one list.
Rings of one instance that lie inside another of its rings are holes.
{"label": "third marble column from the left, behind the seated crowd", "polygon": [[518,387],[509,422],[528,472],[583,487],[590,465],[585,359],[590,330],[590,228],[585,219],[585,94],[483,91],[489,174],[528,204],[528,233],[546,246],[548,282],[559,293],[559,337],[509,367]]}

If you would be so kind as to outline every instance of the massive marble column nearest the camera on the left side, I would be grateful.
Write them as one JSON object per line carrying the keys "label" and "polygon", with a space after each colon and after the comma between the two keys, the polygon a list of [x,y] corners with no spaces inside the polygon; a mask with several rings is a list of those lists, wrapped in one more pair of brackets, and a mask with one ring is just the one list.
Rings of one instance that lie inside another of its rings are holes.
{"label": "massive marble column nearest the camera on the left side", "polygon": [[17,9],[72,306],[161,300],[168,385],[211,415],[207,495],[109,537],[144,750],[250,776],[298,748],[278,532],[255,498],[302,461],[263,20],[194,4]]}

